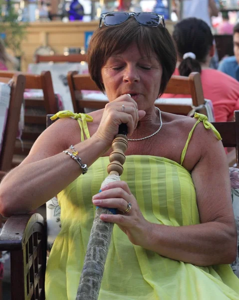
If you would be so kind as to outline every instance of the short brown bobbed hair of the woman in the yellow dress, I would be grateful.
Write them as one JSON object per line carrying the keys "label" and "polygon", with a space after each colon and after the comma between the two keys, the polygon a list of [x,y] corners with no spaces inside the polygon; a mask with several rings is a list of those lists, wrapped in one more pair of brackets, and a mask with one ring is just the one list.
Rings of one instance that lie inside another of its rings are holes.
{"label": "short brown bobbed hair of the woman in the yellow dress", "polygon": [[107,59],[116,53],[124,52],[135,42],[139,51],[150,53],[154,51],[162,65],[163,74],[159,90],[161,95],[172,76],[176,66],[176,49],[169,31],[161,24],[157,27],[142,26],[130,17],[116,26],[97,28],[92,35],[88,48],[88,64],[91,78],[104,91],[101,80],[101,69]]}

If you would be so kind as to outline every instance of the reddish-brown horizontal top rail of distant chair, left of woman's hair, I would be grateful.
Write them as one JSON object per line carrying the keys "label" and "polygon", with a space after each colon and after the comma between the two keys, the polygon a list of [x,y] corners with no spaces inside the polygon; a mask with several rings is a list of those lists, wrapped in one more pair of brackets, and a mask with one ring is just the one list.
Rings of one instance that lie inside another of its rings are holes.
{"label": "reddish-brown horizontal top rail of distant chair, left of woman's hair", "polygon": [[35,56],[35,62],[81,62],[87,61],[87,54],[53,54],[53,55],[39,55]]}

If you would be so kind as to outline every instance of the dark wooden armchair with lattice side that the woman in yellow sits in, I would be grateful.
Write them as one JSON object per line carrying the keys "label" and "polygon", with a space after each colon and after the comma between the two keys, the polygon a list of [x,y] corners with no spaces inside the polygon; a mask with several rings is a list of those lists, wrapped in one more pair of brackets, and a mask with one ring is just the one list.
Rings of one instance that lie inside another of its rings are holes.
{"label": "dark wooden armchair with lattice side that the woman in yellow sits in", "polygon": [[[221,133],[224,146],[236,147],[239,166],[239,110],[235,111],[234,122],[213,124]],[[38,213],[12,215],[5,222],[0,250],[10,251],[11,300],[45,299],[46,237],[46,224]]]}

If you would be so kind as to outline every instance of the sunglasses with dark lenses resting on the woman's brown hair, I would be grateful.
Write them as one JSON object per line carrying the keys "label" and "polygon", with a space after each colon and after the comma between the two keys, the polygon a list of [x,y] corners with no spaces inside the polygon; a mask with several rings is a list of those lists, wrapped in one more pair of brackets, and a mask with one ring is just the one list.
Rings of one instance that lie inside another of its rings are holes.
{"label": "sunglasses with dark lenses resting on the woman's brown hair", "polygon": [[164,16],[162,14],[154,12],[124,12],[124,11],[113,11],[101,13],[99,27],[102,26],[102,21],[106,26],[115,26],[119,25],[128,18],[134,16],[136,21],[143,26],[157,27],[160,22],[163,22],[163,27],[165,27]]}

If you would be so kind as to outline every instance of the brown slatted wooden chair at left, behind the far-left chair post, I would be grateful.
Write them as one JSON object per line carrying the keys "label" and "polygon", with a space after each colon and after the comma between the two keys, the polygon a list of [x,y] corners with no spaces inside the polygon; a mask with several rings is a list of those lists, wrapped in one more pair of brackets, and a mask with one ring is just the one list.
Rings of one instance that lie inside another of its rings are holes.
{"label": "brown slatted wooden chair at left, behind the far-left chair post", "polygon": [[[30,74],[16,71],[0,71],[0,76],[10,78],[14,74],[23,74],[26,78],[26,89],[42,89],[42,98],[26,98],[25,115],[24,115],[24,130],[22,133],[23,151],[21,142],[16,140],[14,157],[12,166],[18,165],[29,153],[33,142],[37,139],[40,133],[46,128],[46,114],[56,113],[58,103],[54,94],[50,71],[43,71],[40,75]],[[34,114],[32,113],[34,111]]]}

